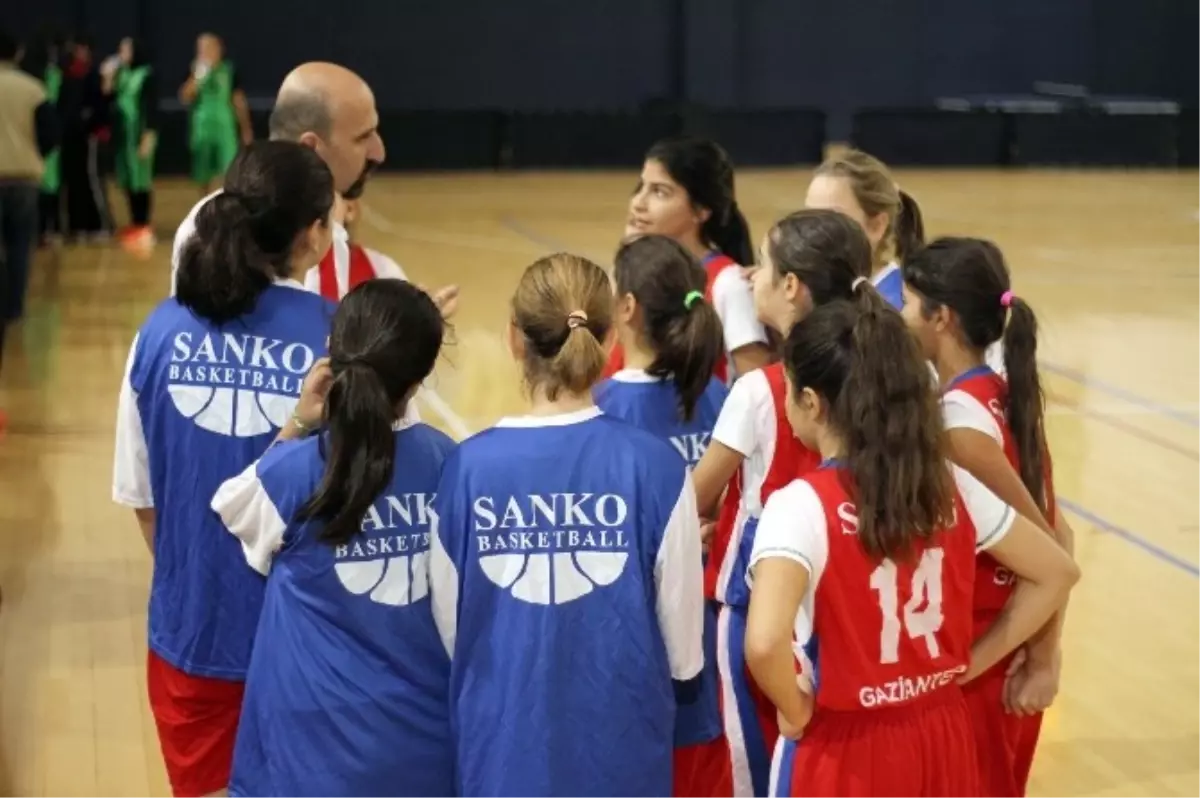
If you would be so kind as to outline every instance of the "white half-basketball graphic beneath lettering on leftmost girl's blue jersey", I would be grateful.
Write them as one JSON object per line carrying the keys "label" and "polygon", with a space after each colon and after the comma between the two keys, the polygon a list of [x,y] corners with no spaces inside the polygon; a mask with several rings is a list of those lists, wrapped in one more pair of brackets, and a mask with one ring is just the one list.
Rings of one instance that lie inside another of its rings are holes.
{"label": "white half-basketball graphic beneath lettering on leftmost girl's blue jersey", "polygon": [[251,438],[282,427],[298,398],[210,385],[169,385],[167,392],[175,409],[196,426],[235,438]]}

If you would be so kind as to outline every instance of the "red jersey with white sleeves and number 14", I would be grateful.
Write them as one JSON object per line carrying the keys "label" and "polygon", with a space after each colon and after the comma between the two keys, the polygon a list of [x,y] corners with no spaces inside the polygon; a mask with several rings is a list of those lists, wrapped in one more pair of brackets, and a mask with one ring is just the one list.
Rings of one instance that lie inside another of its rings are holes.
{"label": "red jersey with white sleeves and number 14", "polygon": [[850,473],[829,463],[776,491],[763,509],[750,576],[781,557],[809,572],[794,652],[818,707],[840,712],[910,704],[953,688],[966,670],[974,559],[1013,526],[1010,506],[966,470],[954,523],[911,557],[875,558],[858,539]]}

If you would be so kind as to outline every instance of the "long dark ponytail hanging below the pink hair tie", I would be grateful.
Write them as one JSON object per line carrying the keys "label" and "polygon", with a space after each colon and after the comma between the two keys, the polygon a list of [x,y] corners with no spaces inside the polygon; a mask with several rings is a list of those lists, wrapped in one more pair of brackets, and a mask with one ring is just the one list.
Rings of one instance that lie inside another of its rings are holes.
{"label": "long dark ponytail hanging below the pink hair tie", "polygon": [[1021,481],[1042,515],[1051,517],[1046,506],[1045,395],[1038,376],[1038,319],[1033,308],[1016,296],[1008,306],[1004,325],[1004,372],[1008,379],[1008,428],[1016,444]]}

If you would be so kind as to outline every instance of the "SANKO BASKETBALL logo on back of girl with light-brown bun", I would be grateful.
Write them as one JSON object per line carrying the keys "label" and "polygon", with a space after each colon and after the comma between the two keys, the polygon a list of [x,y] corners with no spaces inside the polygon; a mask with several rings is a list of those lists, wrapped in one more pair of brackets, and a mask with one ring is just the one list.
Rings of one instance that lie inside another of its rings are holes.
{"label": "SANKO BASKETBALL logo on back of girl with light-brown bun", "polygon": [[473,515],[480,568],[520,601],[575,601],[616,582],[629,560],[629,505],[613,493],[481,496]]}

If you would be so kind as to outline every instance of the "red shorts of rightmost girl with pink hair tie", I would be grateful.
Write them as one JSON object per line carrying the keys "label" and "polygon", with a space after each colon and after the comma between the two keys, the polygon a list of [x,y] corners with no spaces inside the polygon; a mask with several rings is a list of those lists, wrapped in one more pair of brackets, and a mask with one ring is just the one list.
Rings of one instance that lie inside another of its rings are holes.
{"label": "red shorts of rightmost girl with pink hair tie", "polygon": [[1006,659],[962,688],[974,728],[979,780],[988,798],[1025,794],[1042,730],[1040,714],[1020,718],[1004,712],[1007,666]]}

